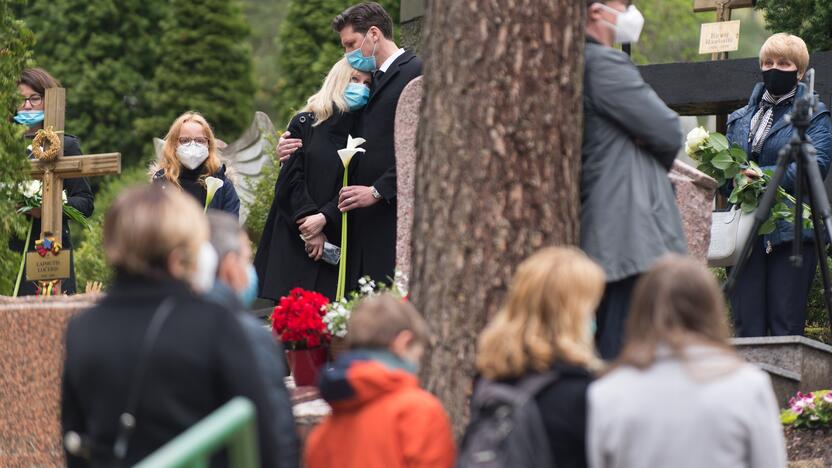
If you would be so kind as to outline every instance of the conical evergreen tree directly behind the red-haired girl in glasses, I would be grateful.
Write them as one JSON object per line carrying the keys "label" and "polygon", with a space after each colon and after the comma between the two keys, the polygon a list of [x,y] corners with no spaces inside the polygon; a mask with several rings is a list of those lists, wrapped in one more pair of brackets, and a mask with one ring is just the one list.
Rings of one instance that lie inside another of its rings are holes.
{"label": "conical evergreen tree directly behind the red-haired girl in glasses", "polygon": [[240,136],[254,116],[249,27],[235,0],[172,0],[161,24],[159,65],[145,95],[150,114],[136,122],[143,141],[164,136],[188,110],[219,138]]}

